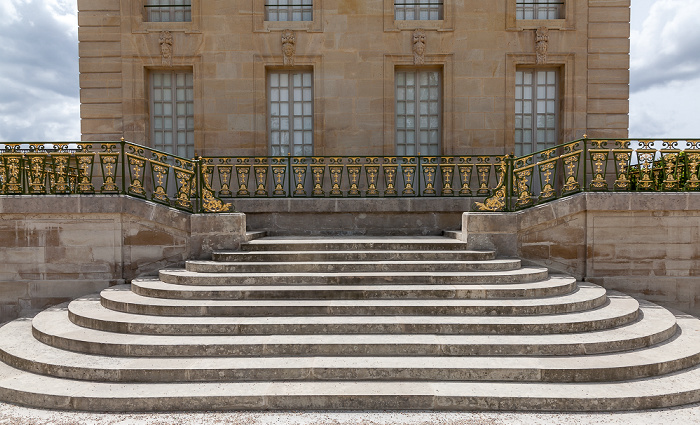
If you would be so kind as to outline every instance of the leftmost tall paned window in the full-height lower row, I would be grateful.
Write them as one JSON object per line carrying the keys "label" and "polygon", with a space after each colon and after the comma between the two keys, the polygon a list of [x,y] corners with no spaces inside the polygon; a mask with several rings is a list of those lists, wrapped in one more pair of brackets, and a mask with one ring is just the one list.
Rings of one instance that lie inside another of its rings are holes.
{"label": "leftmost tall paned window in the full-height lower row", "polygon": [[194,78],[191,72],[151,74],[151,141],[154,148],[194,157]]}

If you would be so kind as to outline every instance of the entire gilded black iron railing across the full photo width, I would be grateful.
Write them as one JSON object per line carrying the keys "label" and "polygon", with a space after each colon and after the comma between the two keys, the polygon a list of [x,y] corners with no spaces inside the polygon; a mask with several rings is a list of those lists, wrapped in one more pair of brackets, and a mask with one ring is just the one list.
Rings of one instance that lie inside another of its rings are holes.
{"label": "entire gilded black iron railing across the full photo width", "polygon": [[190,212],[230,211],[224,201],[236,198],[322,197],[469,197],[474,210],[514,211],[582,191],[700,191],[700,139],[579,139],[519,158],[186,159],[123,140],[0,148],[0,194],[124,194]]}

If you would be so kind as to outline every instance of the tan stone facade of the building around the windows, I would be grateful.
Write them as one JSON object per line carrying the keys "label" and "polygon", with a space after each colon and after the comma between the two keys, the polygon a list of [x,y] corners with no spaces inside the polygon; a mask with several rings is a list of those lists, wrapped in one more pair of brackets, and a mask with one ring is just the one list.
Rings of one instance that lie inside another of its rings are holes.
{"label": "tan stone facade of the building around the windows", "polygon": [[440,153],[510,153],[515,72],[535,66],[559,70],[559,142],[627,137],[630,0],[566,0],[548,20],[516,19],[515,0],[445,0],[443,19],[421,21],[395,20],[390,0],[316,0],[292,22],[265,20],[259,0],[192,0],[190,22],[146,22],[144,2],[78,0],[83,140],[152,145],[149,75],[187,70],[194,150],[268,155],[266,78],[300,69],[314,155],[394,155],[395,72],[419,67],[442,78]]}

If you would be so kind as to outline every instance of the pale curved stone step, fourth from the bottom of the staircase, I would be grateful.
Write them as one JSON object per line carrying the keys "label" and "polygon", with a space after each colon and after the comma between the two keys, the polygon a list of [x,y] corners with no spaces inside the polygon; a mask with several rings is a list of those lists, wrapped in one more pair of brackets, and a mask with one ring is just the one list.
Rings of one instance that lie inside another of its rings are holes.
{"label": "pale curved stone step, fourth from the bottom of the staircase", "polygon": [[110,332],[154,335],[270,334],[550,334],[622,326],[637,319],[634,298],[608,292],[608,303],[586,311],[546,316],[272,316],[171,317],[106,309],[98,296],[68,305],[70,320]]}

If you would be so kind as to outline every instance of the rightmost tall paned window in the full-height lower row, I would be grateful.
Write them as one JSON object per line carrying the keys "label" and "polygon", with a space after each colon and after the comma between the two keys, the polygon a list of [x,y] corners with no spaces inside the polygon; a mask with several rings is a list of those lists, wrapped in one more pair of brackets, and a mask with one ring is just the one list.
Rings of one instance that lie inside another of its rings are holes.
{"label": "rightmost tall paned window in the full-height lower row", "polygon": [[558,72],[520,69],[515,74],[515,155],[557,144]]}

